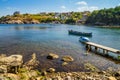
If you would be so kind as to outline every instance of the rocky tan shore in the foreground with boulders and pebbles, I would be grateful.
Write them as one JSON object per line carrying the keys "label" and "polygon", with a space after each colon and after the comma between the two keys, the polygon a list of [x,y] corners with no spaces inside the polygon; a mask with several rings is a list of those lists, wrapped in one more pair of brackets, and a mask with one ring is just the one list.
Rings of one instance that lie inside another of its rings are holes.
{"label": "rocky tan shore in the foreground with boulders and pebbles", "polygon": [[[46,59],[57,59],[59,55],[48,54]],[[66,55],[61,59],[65,65],[74,61],[72,56]],[[55,68],[38,70],[39,61],[33,53],[31,59],[23,61],[22,55],[0,56],[0,80],[120,80],[120,70],[114,71],[112,67],[106,71],[97,69],[90,63],[84,66],[89,72],[58,72]],[[63,65],[64,66],[64,65]]]}

